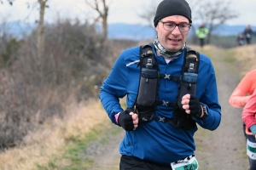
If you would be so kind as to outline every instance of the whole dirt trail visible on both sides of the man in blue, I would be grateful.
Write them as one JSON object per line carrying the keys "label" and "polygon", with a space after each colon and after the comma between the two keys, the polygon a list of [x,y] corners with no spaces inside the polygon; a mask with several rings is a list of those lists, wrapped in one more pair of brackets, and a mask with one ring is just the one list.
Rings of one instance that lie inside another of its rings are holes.
{"label": "whole dirt trail visible on both sides of the man in blue", "polygon": [[[209,53],[202,51],[202,53]],[[222,121],[215,131],[199,128],[195,133],[197,146],[195,156],[200,169],[204,170],[247,170],[246,140],[242,132],[241,109],[230,106],[230,94],[239,82],[239,75],[224,62],[225,50],[212,52],[212,63],[218,78],[218,95],[222,106]],[[115,128],[115,127],[113,127]],[[119,142],[124,131],[116,135],[108,135],[108,144],[93,144],[96,165],[91,170],[119,169]],[[96,147],[95,147],[96,145]],[[93,146],[91,146],[93,148]],[[91,148],[90,147],[90,148]],[[100,150],[100,151],[96,151]]]}

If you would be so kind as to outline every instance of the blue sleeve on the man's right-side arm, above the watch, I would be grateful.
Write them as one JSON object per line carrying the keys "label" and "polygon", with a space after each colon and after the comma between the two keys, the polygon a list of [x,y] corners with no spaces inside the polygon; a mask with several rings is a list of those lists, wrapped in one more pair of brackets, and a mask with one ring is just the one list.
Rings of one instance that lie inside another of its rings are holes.
{"label": "blue sleeve on the man's right-side arm, above the watch", "polygon": [[217,81],[212,63],[210,63],[208,70],[204,72],[203,79],[201,83],[203,83],[203,86],[207,86],[207,88],[201,92],[200,102],[201,105],[207,106],[208,116],[203,120],[195,119],[195,122],[205,129],[215,130],[221,121],[221,106],[218,103]]}

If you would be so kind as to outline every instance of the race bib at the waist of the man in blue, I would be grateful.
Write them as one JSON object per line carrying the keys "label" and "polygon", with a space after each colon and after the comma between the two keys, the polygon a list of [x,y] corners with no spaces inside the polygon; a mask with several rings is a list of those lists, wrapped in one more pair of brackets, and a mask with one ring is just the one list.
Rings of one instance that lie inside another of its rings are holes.
{"label": "race bib at the waist of the man in blue", "polygon": [[171,163],[172,170],[198,170],[198,162],[195,156],[189,156],[184,160]]}

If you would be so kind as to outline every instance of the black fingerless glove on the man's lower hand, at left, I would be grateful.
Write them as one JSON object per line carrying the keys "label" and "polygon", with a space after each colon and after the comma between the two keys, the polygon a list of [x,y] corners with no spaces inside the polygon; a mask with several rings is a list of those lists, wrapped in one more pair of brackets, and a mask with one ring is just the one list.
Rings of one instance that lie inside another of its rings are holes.
{"label": "black fingerless glove on the man's lower hand, at left", "polygon": [[131,111],[131,109],[126,109],[119,113],[119,126],[123,127],[125,131],[132,131],[134,128],[132,116],[129,114]]}

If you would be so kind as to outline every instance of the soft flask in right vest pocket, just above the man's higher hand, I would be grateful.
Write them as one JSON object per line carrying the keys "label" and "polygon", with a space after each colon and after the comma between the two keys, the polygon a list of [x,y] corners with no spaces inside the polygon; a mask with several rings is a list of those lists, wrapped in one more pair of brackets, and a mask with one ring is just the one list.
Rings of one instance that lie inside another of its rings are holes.
{"label": "soft flask in right vest pocket, just above the man's higher hand", "polygon": [[181,104],[183,95],[185,94],[195,95],[196,81],[197,81],[197,74],[195,73],[194,64],[190,63],[188,72],[183,73],[182,83],[180,86],[180,93],[178,94],[178,98],[177,98],[177,105],[180,109],[183,110],[183,105]]}

